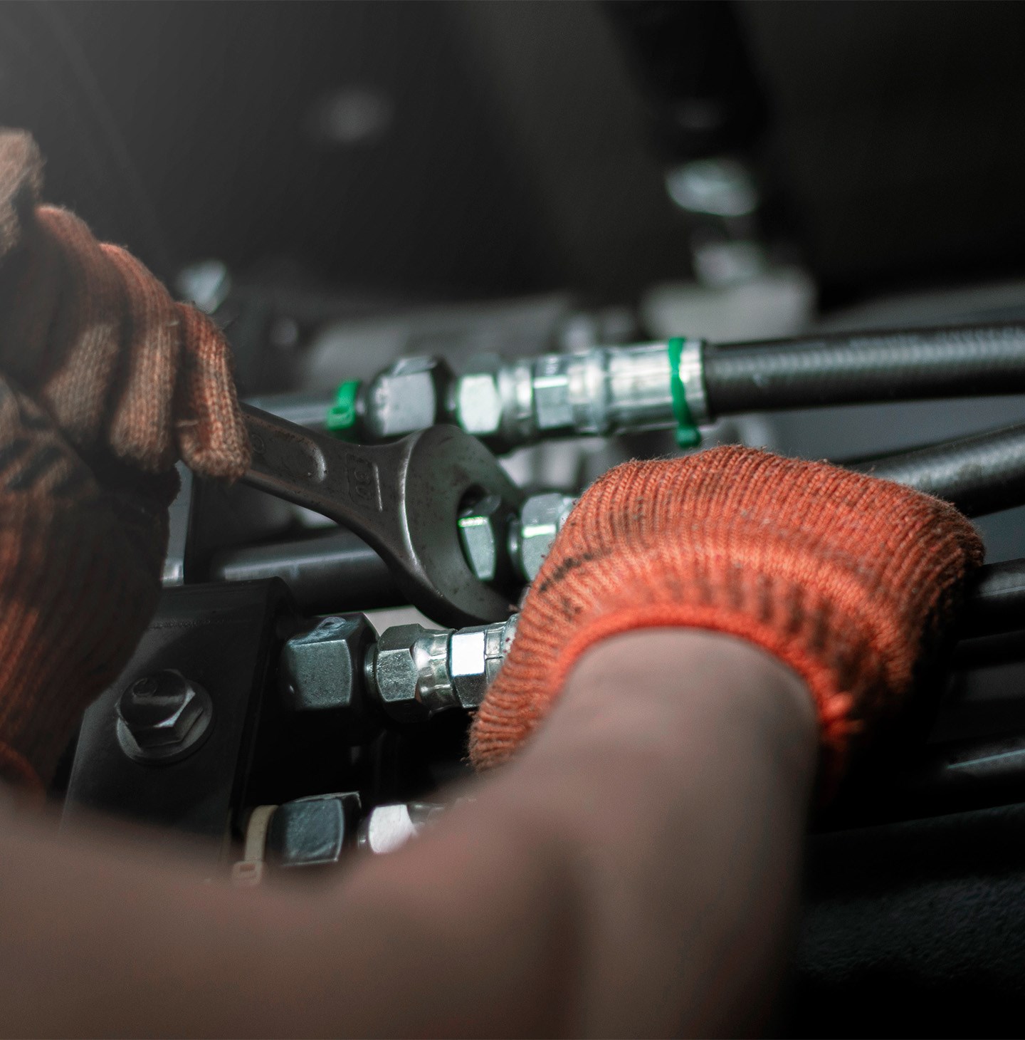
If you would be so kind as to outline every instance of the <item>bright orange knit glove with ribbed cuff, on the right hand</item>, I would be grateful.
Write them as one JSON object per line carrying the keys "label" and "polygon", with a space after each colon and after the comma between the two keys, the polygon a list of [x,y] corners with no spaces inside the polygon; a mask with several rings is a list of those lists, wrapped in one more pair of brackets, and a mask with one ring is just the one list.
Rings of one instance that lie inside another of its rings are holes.
{"label": "bright orange knit glove with ribbed cuff, on the right hand", "polygon": [[471,758],[505,761],[588,647],[684,626],[750,640],[797,672],[835,777],[851,737],[911,690],[981,562],[953,506],[825,463],[722,447],[619,466],[580,499],[534,579]]}

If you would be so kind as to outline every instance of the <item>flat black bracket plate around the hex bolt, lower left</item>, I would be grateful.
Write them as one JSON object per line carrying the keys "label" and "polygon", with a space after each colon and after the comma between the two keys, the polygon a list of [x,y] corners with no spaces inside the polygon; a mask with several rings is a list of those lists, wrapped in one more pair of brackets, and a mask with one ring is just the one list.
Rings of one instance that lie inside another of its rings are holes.
{"label": "flat black bracket plate around the hex bolt, lower left", "polygon": [[[249,788],[255,720],[265,717],[274,724],[264,710],[273,706],[264,692],[280,656],[283,627],[295,630],[281,581],[165,589],[122,677],[83,717],[63,818],[77,822],[97,813],[139,818],[165,828],[168,846],[180,840],[174,831],[208,837],[212,841],[204,848],[217,861],[232,814],[246,805],[278,801],[249,798]],[[202,684],[213,720],[190,754],[157,766],[125,754],[117,706],[137,679],[166,669]]]}

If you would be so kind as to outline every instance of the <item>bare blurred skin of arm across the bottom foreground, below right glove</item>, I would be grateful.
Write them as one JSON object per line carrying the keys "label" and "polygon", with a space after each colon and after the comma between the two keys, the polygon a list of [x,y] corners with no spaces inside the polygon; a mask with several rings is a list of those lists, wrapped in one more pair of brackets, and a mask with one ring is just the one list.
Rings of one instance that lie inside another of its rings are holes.
{"label": "bare blurred skin of arm across the bottom foreground, below right glove", "polygon": [[337,888],[243,895],[138,849],[8,836],[3,1028],[742,1029],[785,941],[814,732],[759,651],[634,634],[581,661],[475,802]]}

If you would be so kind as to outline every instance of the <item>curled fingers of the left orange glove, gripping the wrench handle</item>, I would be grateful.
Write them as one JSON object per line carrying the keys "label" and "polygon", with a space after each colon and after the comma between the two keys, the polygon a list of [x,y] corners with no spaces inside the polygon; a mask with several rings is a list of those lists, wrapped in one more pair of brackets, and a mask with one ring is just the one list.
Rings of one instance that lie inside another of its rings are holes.
{"label": "curled fingers of the left orange glove, gripping the wrench handle", "polygon": [[158,473],[181,458],[235,478],[248,463],[217,327],[73,213],[40,206],[43,160],[0,131],[0,372],[90,461]]}

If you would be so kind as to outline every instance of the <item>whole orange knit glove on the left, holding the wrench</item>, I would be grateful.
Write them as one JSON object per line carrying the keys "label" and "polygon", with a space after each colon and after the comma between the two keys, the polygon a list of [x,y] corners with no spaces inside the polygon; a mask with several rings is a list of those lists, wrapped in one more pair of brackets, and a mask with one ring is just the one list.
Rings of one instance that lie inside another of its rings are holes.
{"label": "whole orange knit glove on the left, holding the wrench", "polygon": [[0,776],[45,785],[160,591],[181,458],[237,477],[227,343],[71,213],[0,133]]}

